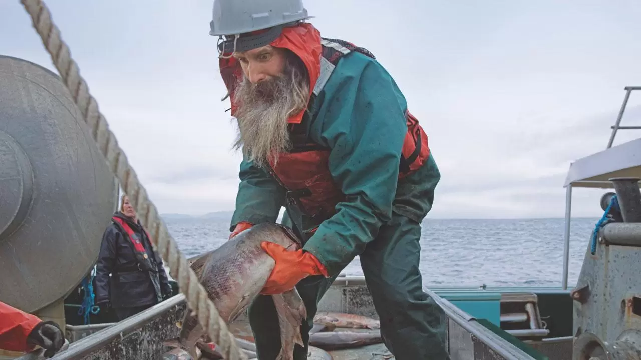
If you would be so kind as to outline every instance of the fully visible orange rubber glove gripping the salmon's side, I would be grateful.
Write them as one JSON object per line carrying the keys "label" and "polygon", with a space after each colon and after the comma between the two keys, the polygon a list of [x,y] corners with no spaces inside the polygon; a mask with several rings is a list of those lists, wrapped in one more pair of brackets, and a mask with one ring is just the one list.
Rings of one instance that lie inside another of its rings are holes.
{"label": "fully visible orange rubber glove gripping the salmon's side", "polygon": [[269,275],[265,287],[260,291],[262,295],[278,295],[290,291],[299,281],[308,276],[323,275],[328,277],[325,266],[309,252],[288,251],[281,245],[270,242],[263,242],[260,247],[276,261],[272,274]]}

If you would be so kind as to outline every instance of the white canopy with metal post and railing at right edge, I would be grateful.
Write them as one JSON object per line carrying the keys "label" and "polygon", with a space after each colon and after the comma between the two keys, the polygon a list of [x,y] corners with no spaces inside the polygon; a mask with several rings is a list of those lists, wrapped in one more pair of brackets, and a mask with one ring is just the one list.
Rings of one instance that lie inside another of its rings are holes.
{"label": "white canopy with metal post and railing at right edge", "polygon": [[641,90],[641,86],[624,88],[626,96],[623,100],[619,116],[610,127],[612,135],[604,151],[597,152],[585,158],[574,161],[570,165],[565,178],[565,231],[563,234],[563,290],[567,290],[567,279],[570,260],[570,219],[572,217],[572,188],[613,188],[608,181],[615,177],[641,178],[641,138],[612,147],[614,138],[619,130],[641,130],[641,126],[620,126],[623,114],[628,106],[630,94]]}

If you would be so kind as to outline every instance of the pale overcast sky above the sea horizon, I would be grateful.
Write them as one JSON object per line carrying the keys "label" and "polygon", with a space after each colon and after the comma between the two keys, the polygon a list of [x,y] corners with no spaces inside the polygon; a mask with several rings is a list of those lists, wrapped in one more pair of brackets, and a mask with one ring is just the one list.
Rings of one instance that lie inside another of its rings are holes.
{"label": "pale overcast sky above the sea horizon", "polygon": [[[47,2],[161,213],[234,208],[212,3]],[[563,217],[571,161],[605,149],[624,86],[641,85],[638,0],[305,5],[323,37],[365,47],[403,90],[442,173],[431,218]],[[0,3],[0,34],[0,54],[56,71],[19,1]],[[623,124],[641,124],[641,92]],[[575,190],[573,215],[600,217],[602,193]]]}

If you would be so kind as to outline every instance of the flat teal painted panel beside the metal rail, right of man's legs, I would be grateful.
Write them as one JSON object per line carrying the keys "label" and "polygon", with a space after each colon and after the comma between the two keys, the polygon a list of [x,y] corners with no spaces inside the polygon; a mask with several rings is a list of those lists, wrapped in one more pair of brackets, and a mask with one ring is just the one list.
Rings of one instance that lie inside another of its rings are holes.
{"label": "flat teal painted panel beside the metal rail, right of man's legs", "polygon": [[486,291],[440,292],[438,296],[451,302],[474,318],[485,319],[501,327],[501,293]]}

